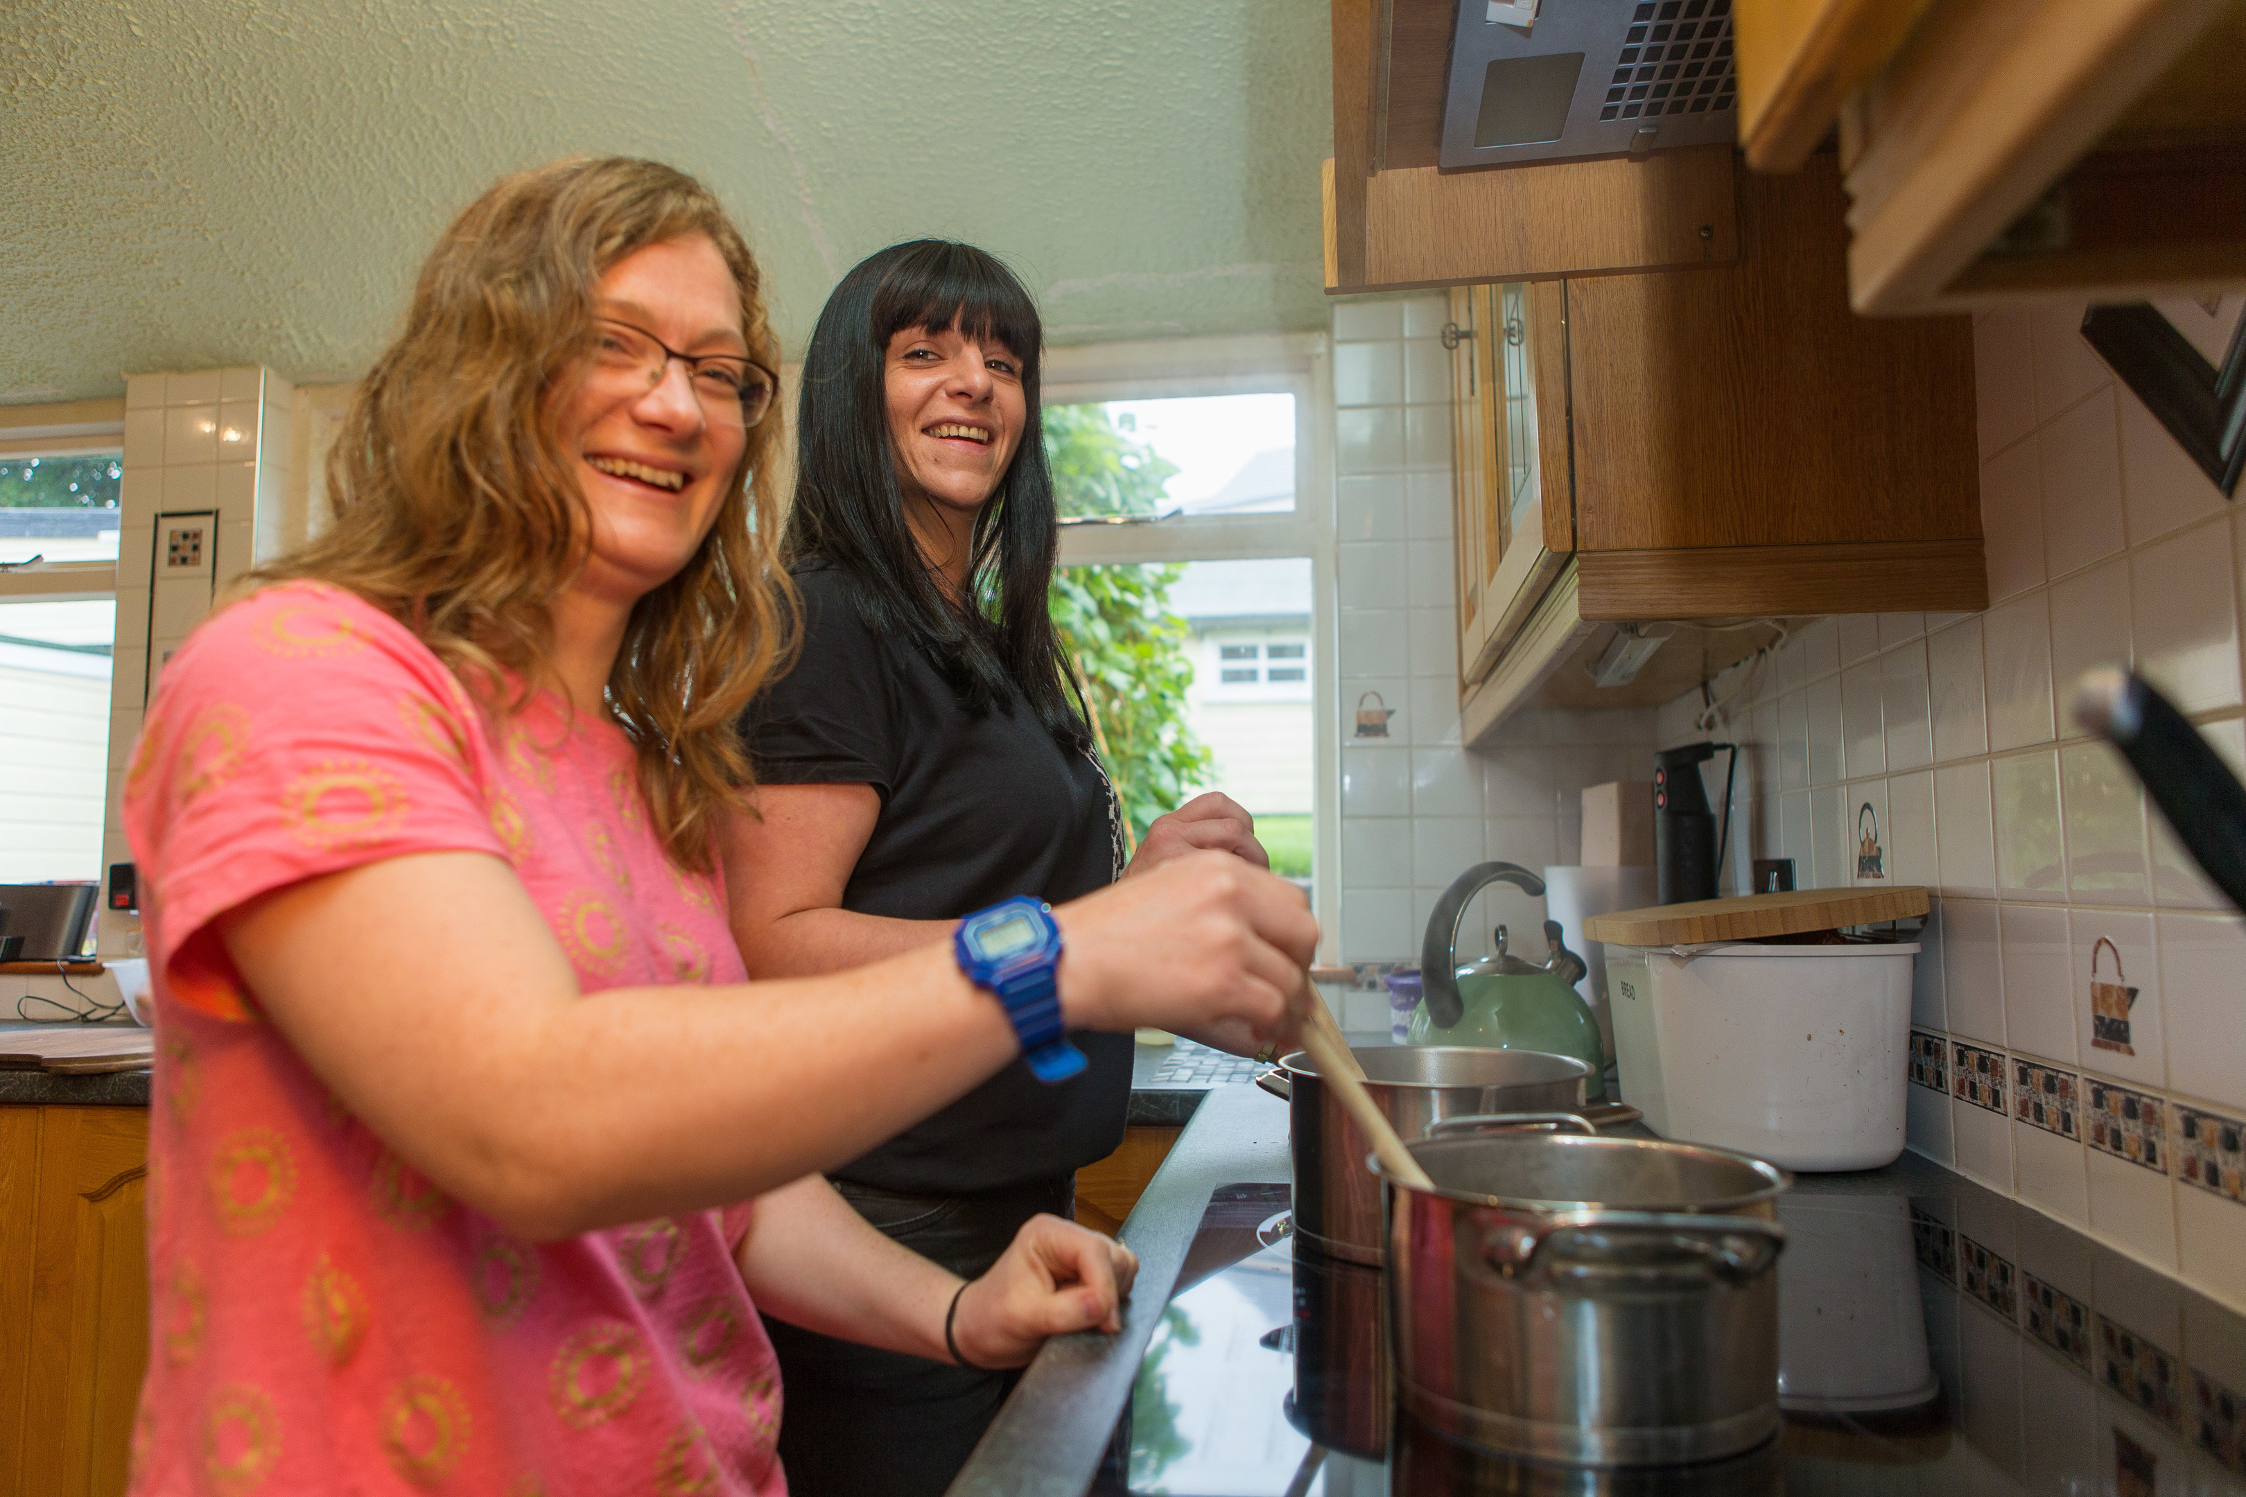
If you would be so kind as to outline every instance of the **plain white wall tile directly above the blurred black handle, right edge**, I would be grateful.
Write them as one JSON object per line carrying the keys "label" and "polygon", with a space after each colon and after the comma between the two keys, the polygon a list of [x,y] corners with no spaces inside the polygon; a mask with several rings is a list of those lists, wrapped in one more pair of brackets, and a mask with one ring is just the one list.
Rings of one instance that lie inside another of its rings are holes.
{"label": "plain white wall tile directly above the blurred black handle, right edge", "polygon": [[2239,705],[2230,525],[2215,521],[2129,554],[2136,669],[2183,711]]}

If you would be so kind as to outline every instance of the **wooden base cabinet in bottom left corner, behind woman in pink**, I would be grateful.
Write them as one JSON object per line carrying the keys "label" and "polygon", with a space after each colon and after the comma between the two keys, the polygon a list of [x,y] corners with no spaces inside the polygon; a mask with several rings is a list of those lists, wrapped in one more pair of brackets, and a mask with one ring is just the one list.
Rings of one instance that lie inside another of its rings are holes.
{"label": "wooden base cabinet in bottom left corner, behind woman in pink", "polygon": [[146,1192],[148,1109],[0,1106],[0,1490],[126,1488]]}

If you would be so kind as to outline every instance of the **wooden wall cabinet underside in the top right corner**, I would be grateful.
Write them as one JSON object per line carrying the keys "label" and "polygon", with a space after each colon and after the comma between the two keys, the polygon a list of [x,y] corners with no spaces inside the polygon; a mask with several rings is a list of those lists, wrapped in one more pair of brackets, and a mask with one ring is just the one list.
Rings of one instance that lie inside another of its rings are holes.
{"label": "wooden wall cabinet underside in the top right corner", "polygon": [[1860,312],[2246,285],[2246,2],[1736,0],[1738,130],[1839,123]]}

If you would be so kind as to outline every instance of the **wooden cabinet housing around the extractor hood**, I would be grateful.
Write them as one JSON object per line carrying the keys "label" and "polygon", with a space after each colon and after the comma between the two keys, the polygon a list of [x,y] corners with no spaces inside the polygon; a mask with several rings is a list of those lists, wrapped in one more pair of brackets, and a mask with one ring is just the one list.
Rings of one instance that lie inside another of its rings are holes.
{"label": "wooden cabinet housing around the extractor hood", "polygon": [[[1579,2],[1547,0],[1547,7]],[[1613,11],[1615,2],[1599,0],[1597,9]],[[1718,2],[1729,4],[1700,0]],[[1738,258],[1729,144],[1626,155],[1633,141],[1658,139],[1640,128],[1646,101],[1637,101],[1615,105],[1617,119],[1608,123],[1624,135],[1604,159],[1444,171],[1458,0],[1332,0],[1332,22],[1334,157],[1321,182],[1330,292],[1604,276]],[[1550,34],[1550,25],[1539,25]],[[1626,40],[1626,27],[1610,40]],[[1601,52],[1592,61],[1586,52],[1579,61],[1586,72],[1570,81],[1574,97],[1601,97],[1586,90],[1608,88],[1615,58]],[[1599,72],[1590,74],[1592,67]],[[1651,88],[1669,92],[1676,81]],[[1619,119],[1624,108],[1633,110],[1631,121]]]}

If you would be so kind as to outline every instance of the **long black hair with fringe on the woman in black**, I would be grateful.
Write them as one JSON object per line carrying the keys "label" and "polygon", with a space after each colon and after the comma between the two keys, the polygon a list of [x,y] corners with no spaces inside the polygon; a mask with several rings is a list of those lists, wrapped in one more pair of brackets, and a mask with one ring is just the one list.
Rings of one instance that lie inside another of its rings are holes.
{"label": "long black hair with fringe on the woman in black", "polygon": [[[907,328],[957,328],[1022,361],[1022,444],[975,516],[957,599],[912,539],[896,483],[885,370],[889,339]],[[1083,747],[1089,734],[1065,691],[1076,676],[1047,608],[1060,532],[1038,417],[1042,350],[1035,303],[988,251],[912,240],[860,260],[820,310],[804,355],[786,557],[842,572],[865,626],[910,640],[968,711],[1006,709],[1020,691],[1053,738]]]}

